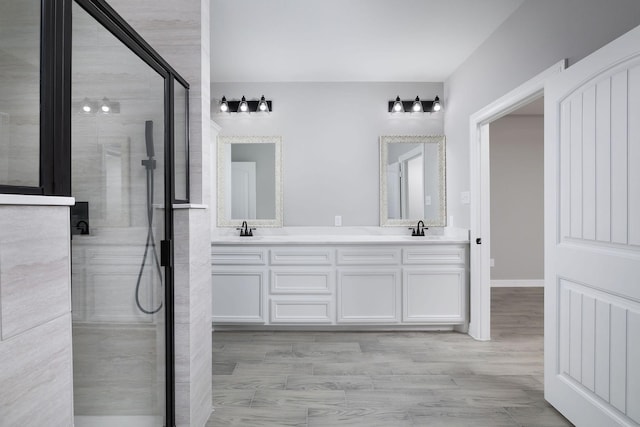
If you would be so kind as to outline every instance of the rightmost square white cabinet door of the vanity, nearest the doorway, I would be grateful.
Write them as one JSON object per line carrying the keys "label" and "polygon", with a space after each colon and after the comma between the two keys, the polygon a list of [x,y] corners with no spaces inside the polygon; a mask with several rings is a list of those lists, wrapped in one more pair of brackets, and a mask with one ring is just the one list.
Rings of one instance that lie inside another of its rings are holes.
{"label": "rightmost square white cabinet door of the vanity, nearest the doorway", "polygon": [[466,275],[462,267],[405,268],[402,320],[459,324],[465,321]]}

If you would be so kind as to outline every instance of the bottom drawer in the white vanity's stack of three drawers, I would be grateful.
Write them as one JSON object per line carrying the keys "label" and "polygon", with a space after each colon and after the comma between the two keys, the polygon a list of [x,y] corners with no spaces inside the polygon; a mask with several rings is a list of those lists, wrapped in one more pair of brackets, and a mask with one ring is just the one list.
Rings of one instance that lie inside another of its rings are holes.
{"label": "bottom drawer in the white vanity's stack of three drawers", "polygon": [[271,298],[269,323],[333,323],[333,304],[330,299]]}

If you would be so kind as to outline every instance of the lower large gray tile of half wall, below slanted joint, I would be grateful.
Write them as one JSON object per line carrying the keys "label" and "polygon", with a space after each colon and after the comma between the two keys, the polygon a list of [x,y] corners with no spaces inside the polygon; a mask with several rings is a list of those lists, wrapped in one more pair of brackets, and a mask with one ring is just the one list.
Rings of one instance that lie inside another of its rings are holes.
{"label": "lower large gray tile of half wall, below slanted joint", "polygon": [[73,425],[71,314],[0,342],[0,425]]}

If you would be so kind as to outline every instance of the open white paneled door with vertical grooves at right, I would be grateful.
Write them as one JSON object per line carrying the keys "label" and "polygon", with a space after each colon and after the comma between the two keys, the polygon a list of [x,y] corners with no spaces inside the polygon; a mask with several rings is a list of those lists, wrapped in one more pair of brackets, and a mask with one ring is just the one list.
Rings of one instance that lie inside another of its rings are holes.
{"label": "open white paneled door with vertical grooves at right", "polygon": [[545,86],[545,397],[640,425],[640,27]]}

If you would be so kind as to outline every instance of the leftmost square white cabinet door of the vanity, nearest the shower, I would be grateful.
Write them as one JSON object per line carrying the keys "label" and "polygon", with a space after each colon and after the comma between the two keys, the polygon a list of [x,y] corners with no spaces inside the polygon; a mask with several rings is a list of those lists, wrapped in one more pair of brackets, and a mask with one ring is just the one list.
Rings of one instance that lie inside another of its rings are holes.
{"label": "leftmost square white cabinet door of the vanity, nearest the shower", "polygon": [[211,275],[214,322],[265,322],[264,270],[217,268]]}

